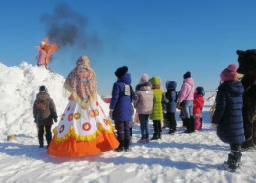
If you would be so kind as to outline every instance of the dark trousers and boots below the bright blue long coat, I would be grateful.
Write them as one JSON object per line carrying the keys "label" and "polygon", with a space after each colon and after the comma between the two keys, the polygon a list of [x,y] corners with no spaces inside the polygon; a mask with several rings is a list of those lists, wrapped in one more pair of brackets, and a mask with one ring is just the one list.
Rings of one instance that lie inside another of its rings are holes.
{"label": "dark trousers and boots below the bright blue long coat", "polygon": [[120,146],[125,148],[129,147],[130,144],[130,127],[128,121],[115,121],[115,128],[117,130],[117,139]]}

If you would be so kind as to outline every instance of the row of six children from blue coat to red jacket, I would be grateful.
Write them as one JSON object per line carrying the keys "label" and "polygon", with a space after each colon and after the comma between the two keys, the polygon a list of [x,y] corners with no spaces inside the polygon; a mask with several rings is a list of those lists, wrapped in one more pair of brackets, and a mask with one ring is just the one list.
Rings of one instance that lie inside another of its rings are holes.
{"label": "row of six children from blue coat to red jacket", "polygon": [[[158,76],[149,78],[143,74],[135,91],[131,87],[131,76],[128,67],[120,67],[116,70],[117,81],[112,90],[110,104],[110,116],[115,121],[118,140],[120,142],[116,151],[129,150],[130,134],[128,133],[131,111],[134,106],[139,116],[141,127],[141,139],[139,143],[149,143],[149,118],[153,121],[154,133],[151,140],[161,139],[162,121],[165,119],[169,127],[169,134],[174,134],[177,128],[176,108],[181,110],[183,126],[187,128],[185,133],[192,133],[202,128],[202,109],[204,106],[204,89],[194,89],[194,81],[191,73],[184,74],[181,91],[176,91],[177,83],[167,81],[164,92],[161,79]],[[128,80],[129,79],[129,80]],[[135,96],[135,97],[133,97]],[[163,112],[162,103],[166,103],[166,111]],[[133,106],[132,106],[133,104]]]}

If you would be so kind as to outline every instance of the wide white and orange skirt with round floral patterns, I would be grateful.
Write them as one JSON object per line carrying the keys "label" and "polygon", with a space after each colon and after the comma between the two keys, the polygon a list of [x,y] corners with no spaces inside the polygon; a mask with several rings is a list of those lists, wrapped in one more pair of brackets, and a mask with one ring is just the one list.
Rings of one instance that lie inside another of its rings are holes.
{"label": "wide white and orange skirt with round floral patterns", "polygon": [[48,153],[62,157],[95,155],[118,147],[111,121],[97,101],[87,109],[70,101],[58,126]]}

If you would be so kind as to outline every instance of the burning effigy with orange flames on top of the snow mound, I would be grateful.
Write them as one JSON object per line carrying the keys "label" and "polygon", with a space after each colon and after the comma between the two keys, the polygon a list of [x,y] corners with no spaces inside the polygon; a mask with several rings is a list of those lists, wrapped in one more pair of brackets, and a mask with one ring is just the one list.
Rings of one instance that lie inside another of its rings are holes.
{"label": "burning effigy with orange flames on top of the snow mound", "polygon": [[37,65],[38,66],[45,65],[45,67],[48,69],[52,52],[57,51],[59,49],[58,44],[49,43],[49,39],[48,37],[46,37],[44,40],[41,41],[41,44],[36,47],[38,48],[38,51],[39,51],[37,55]]}

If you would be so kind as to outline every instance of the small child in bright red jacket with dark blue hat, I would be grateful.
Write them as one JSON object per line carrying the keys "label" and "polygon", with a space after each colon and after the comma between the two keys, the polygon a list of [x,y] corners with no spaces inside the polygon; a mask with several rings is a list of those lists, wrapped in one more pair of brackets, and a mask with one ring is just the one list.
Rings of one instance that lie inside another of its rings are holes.
{"label": "small child in bright red jacket with dark blue hat", "polygon": [[202,109],[204,107],[204,95],[205,91],[203,87],[197,87],[195,94],[194,94],[194,101],[193,101],[193,115],[195,119],[195,130],[202,129]]}

